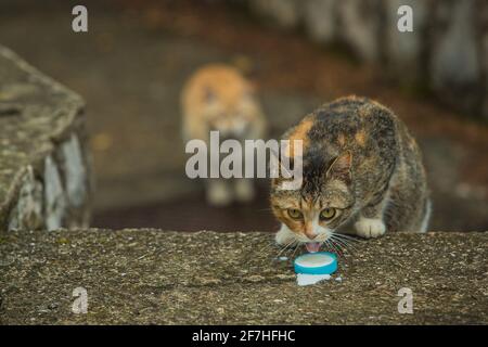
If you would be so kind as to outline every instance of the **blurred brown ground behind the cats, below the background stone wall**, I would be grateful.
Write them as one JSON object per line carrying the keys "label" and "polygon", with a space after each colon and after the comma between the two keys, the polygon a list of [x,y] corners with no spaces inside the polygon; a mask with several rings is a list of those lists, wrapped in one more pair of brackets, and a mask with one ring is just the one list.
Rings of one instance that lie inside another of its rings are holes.
{"label": "blurred brown ground behind the cats, below the background stone wall", "polygon": [[248,206],[216,209],[205,204],[202,184],[184,175],[181,86],[202,64],[224,62],[258,86],[272,137],[345,94],[390,106],[424,152],[434,200],[431,230],[487,229],[488,129],[470,115],[441,108],[418,91],[401,91],[381,68],[359,66],[235,9],[187,1],[85,3],[89,33],[75,34],[68,2],[2,1],[0,41],[86,99],[98,178],[93,226],[275,228],[265,188]]}

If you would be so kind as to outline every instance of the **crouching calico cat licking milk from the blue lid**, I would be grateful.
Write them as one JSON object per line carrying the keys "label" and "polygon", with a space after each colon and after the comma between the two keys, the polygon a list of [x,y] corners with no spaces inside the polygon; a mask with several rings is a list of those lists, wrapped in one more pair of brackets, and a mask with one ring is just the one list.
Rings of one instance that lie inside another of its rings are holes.
{"label": "crouching calico cat licking milk from the blue lid", "polygon": [[386,231],[424,232],[431,203],[422,155],[404,124],[365,98],[325,104],[285,132],[303,140],[303,184],[271,183],[271,207],[282,222],[278,244],[319,250],[334,233],[365,239]]}

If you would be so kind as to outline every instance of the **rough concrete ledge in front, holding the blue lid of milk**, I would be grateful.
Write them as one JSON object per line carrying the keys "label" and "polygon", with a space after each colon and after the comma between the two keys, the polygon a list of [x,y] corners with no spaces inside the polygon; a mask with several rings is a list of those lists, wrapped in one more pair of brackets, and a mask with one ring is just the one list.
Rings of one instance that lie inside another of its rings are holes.
{"label": "rough concrete ledge in front, holding the blue lid of milk", "polygon": [[[270,233],[20,231],[0,240],[2,324],[488,323],[488,233],[358,243],[343,281],[299,287]],[[73,291],[88,292],[75,314]],[[398,313],[401,287],[413,314]]]}

